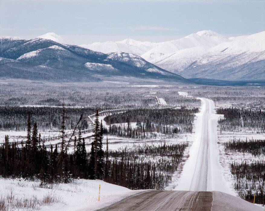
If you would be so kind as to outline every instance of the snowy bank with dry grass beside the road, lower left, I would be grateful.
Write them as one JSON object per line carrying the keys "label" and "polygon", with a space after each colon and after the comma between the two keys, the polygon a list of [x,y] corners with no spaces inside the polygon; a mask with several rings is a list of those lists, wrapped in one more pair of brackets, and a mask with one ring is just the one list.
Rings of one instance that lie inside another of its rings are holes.
{"label": "snowy bank with dry grass beside the road, lower left", "polygon": [[[101,185],[100,201],[99,184]],[[40,208],[40,210],[95,210],[144,191],[132,191],[101,180],[85,179],[74,180],[69,184],[49,184],[49,187],[46,188],[40,188],[39,185],[40,182],[37,181],[0,178],[0,198],[1,195],[9,198],[12,195],[12,204],[16,204],[18,201],[24,203],[25,201],[31,201],[31,203],[36,204],[35,208]],[[44,201],[43,198],[46,196],[50,196],[57,202],[45,205],[42,201]],[[18,207],[9,205],[10,210],[18,209]],[[23,209],[19,208],[19,210]]]}

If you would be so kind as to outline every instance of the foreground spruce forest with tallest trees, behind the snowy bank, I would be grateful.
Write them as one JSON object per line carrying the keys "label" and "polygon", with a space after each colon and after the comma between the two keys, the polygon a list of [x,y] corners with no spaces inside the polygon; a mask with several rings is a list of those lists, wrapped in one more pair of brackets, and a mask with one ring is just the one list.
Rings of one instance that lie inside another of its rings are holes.
{"label": "foreground spruce forest with tallest trees, behind the snowy bank", "polygon": [[[91,150],[86,151],[86,143],[78,137],[67,141],[65,134],[65,109],[61,115],[62,142],[47,149],[41,141],[37,123],[31,128],[30,113],[27,117],[27,141],[21,146],[10,143],[8,136],[0,146],[0,175],[2,177],[40,179],[40,186],[53,182],[70,182],[73,178],[102,179],[131,189],[163,189],[170,181],[171,174],[177,169],[188,143],[162,146],[134,146],[117,151],[104,151],[102,146],[103,125],[95,119],[95,129]],[[98,111],[97,111],[98,114]],[[75,125],[80,123],[79,121]],[[68,152],[73,142],[73,152]]]}

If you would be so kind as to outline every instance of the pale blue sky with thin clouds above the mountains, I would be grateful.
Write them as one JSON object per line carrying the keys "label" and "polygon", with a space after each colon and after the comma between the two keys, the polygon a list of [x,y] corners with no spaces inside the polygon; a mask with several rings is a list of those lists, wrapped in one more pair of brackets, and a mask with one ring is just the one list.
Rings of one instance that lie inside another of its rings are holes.
{"label": "pale blue sky with thin clouds above the mountains", "polygon": [[0,36],[53,32],[72,44],[132,38],[161,42],[201,30],[237,36],[265,30],[265,1],[0,0]]}

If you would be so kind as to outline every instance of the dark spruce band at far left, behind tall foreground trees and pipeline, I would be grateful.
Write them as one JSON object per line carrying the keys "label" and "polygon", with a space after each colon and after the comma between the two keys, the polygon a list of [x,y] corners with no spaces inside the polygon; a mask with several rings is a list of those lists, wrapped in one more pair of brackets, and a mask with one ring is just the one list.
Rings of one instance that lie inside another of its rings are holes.
{"label": "dark spruce band at far left, behind tall foreground trees and pipeline", "polygon": [[[91,115],[96,109],[87,108],[65,108],[66,130],[71,130],[75,122],[79,119],[80,113]],[[62,107],[21,107],[21,106],[0,106],[0,131],[14,130],[25,131],[27,129],[27,113],[31,113],[31,124],[37,122],[39,131],[60,131],[62,122]],[[85,130],[89,127],[85,117],[80,122],[79,127]]]}

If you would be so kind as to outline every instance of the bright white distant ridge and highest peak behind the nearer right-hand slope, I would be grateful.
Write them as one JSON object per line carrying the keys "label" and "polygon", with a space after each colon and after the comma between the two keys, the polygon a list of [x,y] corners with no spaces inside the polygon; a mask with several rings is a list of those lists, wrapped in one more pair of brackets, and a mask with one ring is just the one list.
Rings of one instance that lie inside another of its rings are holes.
{"label": "bright white distant ridge and highest peak behind the nearer right-hand slope", "polygon": [[177,40],[171,40],[161,43],[141,42],[133,39],[125,39],[119,42],[105,42],[105,43],[92,43],[87,45],[80,45],[81,47],[102,52],[126,52],[133,53],[141,56],[147,61],[158,58],[162,55],[173,53],[181,49],[192,47],[212,47],[222,42],[228,41],[228,38],[215,33],[211,30],[197,32],[190,34]]}

